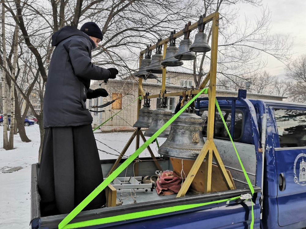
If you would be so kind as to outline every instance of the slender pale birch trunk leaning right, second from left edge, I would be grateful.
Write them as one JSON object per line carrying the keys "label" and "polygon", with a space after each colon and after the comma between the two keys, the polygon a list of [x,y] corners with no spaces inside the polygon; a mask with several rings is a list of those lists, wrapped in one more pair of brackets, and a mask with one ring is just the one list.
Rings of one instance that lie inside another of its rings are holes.
{"label": "slender pale birch trunk leaning right, second from left edge", "polygon": [[[14,40],[14,57],[13,57],[13,65],[12,65],[12,78],[15,79],[16,74],[16,63],[17,63],[17,52],[18,52],[18,32],[19,27],[16,24],[15,26],[15,38]],[[15,85],[13,80],[11,81],[11,126],[10,126],[10,132],[9,132],[9,149],[14,148],[14,132],[15,132]]]}

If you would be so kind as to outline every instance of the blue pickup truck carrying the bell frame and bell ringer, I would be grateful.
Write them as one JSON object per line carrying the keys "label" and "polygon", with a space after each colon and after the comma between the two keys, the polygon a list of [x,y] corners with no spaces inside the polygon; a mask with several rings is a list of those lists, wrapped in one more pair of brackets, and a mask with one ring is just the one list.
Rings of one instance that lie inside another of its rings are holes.
{"label": "blue pickup truck carrying the bell frame and bell ringer", "polygon": [[[175,195],[158,196],[155,191],[136,192],[136,203],[127,198],[120,206],[83,211],[71,223],[215,201],[208,205],[176,212],[133,220],[119,219],[111,223],[81,228],[250,228],[252,202],[254,228],[301,229],[306,227],[306,105],[239,97],[217,97],[217,99],[253,185],[255,193],[251,199],[216,202],[251,194],[221,116],[216,110],[215,145],[226,169],[230,171],[236,189],[207,194],[187,192],[180,198],[176,198]],[[203,118],[205,140],[208,100],[199,98],[196,104],[197,114]],[[144,177],[155,172],[155,164],[149,159],[139,162],[138,176]],[[114,162],[115,160],[101,160],[103,174],[108,173]],[[163,170],[172,169],[167,158],[163,158],[159,164]],[[33,164],[31,228],[58,228],[58,224],[66,215],[47,217],[40,215],[38,174],[39,163]],[[133,163],[119,176],[133,176]]]}

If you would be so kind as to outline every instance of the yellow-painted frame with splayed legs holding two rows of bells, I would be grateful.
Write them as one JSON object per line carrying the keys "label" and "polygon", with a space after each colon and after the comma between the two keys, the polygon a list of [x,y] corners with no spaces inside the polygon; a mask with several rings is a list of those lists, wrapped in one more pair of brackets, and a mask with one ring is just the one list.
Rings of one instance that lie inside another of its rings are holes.
{"label": "yellow-painted frame with splayed legs holding two rows of bells", "polygon": [[[207,122],[207,140],[200,151],[200,154],[196,158],[196,161],[194,162],[190,172],[188,173],[188,176],[186,177],[185,182],[183,183],[181,190],[177,194],[177,197],[184,196],[186,192],[188,191],[188,188],[190,187],[192,180],[194,179],[196,173],[198,172],[200,166],[202,165],[202,162],[204,158],[206,158],[206,163],[205,163],[205,193],[211,192],[211,173],[212,173],[212,158],[214,157],[215,162],[218,165],[218,168],[222,174],[223,180],[226,183],[226,186],[228,189],[234,189],[233,183],[230,179],[230,176],[226,172],[226,169],[224,167],[224,164],[222,162],[222,159],[217,151],[217,148],[214,143],[214,119],[215,119],[215,99],[216,99],[216,75],[217,75],[217,54],[218,54],[218,30],[219,30],[219,13],[215,12],[212,13],[211,15],[208,15],[207,17],[203,18],[203,23],[208,23],[212,21],[212,37],[211,37],[211,65],[210,65],[210,71],[203,80],[203,82],[200,85],[200,88],[198,90],[187,90],[187,91],[182,91],[182,92],[176,92],[176,93],[165,93],[164,97],[170,97],[170,96],[181,96],[183,93],[185,95],[195,95],[203,89],[207,83],[209,82],[209,93],[208,93],[208,122]],[[198,23],[194,23],[188,27],[189,31],[195,30],[198,28]],[[177,32],[174,34],[174,38],[178,38],[180,36],[183,36],[183,30]],[[166,56],[166,49],[167,49],[167,43],[169,42],[169,38],[166,38],[159,42],[159,45],[164,45],[164,52],[163,56]],[[150,50],[155,49],[156,45],[150,46]],[[145,53],[145,50],[140,52],[140,60],[139,60],[139,66],[141,64],[141,60],[143,59],[143,54]],[[161,85],[161,93],[164,92],[166,89],[166,67],[163,68],[162,71],[162,85]],[[144,90],[142,88],[142,78],[139,78],[138,81],[138,95],[142,96],[141,99],[144,99]],[[162,94],[156,94],[156,95],[150,95],[148,98],[158,98],[159,96],[162,96]],[[138,107],[137,107],[137,118],[139,115],[139,110],[141,108],[141,99],[138,99]],[[136,131],[136,149],[139,148],[139,136],[140,133],[139,131]],[[133,136],[135,135],[135,131],[133,133]],[[129,144],[131,141],[128,142],[128,144],[125,146],[129,147]],[[125,148],[123,152],[125,151]],[[151,153],[151,152],[150,152]],[[152,156],[153,153],[151,153]],[[122,156],[120,155],[117,159],[117,161],[121,160]],[[116,162],[117,162],[116,161]],[[118,166],[119,161],[116,165]],[[116,166],[113,166],[112,169],[114,169]],[[136,163],[137,165],[137,163]],[[112,172],[111,170],[110,172]],[[136,167],[136,176],[137,176],[138,169]]]}

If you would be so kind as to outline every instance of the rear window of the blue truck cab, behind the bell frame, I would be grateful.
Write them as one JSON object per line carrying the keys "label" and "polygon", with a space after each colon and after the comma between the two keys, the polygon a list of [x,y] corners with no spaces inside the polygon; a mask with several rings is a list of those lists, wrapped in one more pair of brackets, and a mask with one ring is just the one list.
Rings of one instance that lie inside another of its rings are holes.
{"label": "rear window of the blue truck cab, behind the bell frame", "polygon": [[[221,109],[223,118],[226,122],[227,128],[230,130],[231,127],[231,110],[230,109]],[[202,133],[203,136],[207,136],[207,110],[200,111],[200,114],[203,122],[202,122]],[[235,128],[234,128],[234,136],[233,140],[239,141],[243,134],[243,113],[239,110],[235,111]],[[214,131],[214,138],[219,139],[230,139],[230,136],[228,135],[225,126],[222,122],[221,116],[218,111],[215,113],[215,131]]]}

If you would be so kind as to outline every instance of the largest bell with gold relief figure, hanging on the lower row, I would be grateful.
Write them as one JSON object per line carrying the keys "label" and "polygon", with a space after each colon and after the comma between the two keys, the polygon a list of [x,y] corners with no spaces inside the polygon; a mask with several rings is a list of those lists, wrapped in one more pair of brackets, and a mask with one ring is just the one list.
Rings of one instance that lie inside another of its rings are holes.
{"label": "largest bell with gold relief figure, hanging on the lower row", "polygon": [[202,118],[183,112],[172,122],[169,136],[158,153],[170,158],[195,160],[203,145]]}

